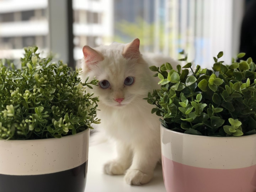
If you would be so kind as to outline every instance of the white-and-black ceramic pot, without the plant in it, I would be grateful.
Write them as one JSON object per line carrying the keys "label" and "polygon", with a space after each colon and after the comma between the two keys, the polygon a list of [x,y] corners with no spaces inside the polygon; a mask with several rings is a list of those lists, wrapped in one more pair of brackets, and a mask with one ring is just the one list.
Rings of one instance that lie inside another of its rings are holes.
{"label": "white-and-black ceramic pot, without the plant in it", "polygon": [[84,192],[89,129],[52,139],[0,140],[0,191]]}

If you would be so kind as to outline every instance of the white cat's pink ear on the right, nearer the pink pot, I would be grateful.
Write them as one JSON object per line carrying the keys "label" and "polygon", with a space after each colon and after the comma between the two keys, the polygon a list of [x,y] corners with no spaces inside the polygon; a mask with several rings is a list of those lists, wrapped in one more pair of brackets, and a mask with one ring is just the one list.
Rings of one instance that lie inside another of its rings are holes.
{"label": "white cat's pink ear on the right, nearer the pink pot", "polygon": [[126,59],[138,59],[140,57],[139,44],[140,41],[138,38],[127,44],[124,47],[123,57]]}

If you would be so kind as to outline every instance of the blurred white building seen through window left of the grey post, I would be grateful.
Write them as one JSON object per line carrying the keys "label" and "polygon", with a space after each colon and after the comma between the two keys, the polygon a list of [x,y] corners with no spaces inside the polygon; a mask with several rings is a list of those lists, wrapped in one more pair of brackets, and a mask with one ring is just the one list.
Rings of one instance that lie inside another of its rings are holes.
{"label": "blurred white building seen through window left of the grey post", "polygon": [[0,58],[20,58],[31,45],[46,49],[47,36],[47,0],[0,0]]}

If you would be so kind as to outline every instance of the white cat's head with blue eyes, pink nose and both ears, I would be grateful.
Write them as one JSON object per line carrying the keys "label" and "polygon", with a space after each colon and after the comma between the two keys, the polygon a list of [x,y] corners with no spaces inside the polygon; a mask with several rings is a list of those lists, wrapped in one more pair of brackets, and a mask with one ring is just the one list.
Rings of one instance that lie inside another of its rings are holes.
{"label": "white cat's head with blue eyes, pink nose and both ears", "polygon": [[83,71],[95,76],[99,83],[94,87],[100,102],[109,107],[132,105],[148,93],[145,71],[148,65],[139,53],[139,39],[130,44],[113,43],[95,49],[84,47],[85,67]]}

